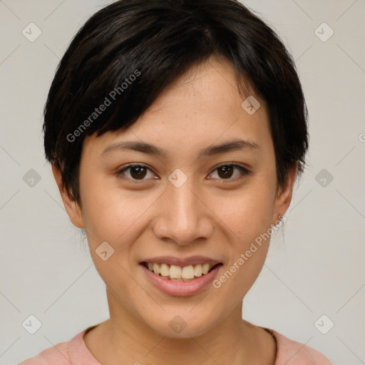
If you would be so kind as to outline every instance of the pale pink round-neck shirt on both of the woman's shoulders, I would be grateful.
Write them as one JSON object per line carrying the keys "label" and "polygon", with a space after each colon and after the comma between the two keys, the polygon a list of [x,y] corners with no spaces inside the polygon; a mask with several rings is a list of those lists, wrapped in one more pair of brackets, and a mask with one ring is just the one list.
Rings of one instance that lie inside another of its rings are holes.
{"label": "pale pink round-neck shirt on both of the woman's shoulders", "polygon": [[[67,342],[41,351],[37,356],[18,365],[101,365],[91,354],[83,341],[88,327]],[[272,329],[266,329],[277,341],[277,358],[275,365],[333,365],[326,356],[312,347],[292,341]]]}

